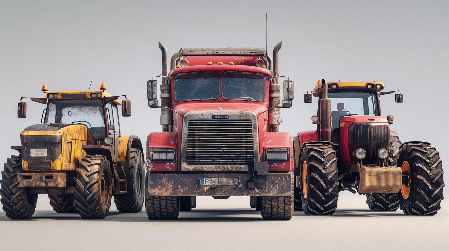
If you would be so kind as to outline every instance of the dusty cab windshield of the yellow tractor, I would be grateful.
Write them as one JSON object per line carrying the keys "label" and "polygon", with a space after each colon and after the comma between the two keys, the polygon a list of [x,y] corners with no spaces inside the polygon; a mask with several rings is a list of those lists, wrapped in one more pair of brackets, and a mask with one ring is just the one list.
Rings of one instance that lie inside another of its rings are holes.
{"label": "dusty cab windshield of the yellow tractor", "polygon": [[48,100],[44,123],[84,125],[92,140],[105,138],[101,100]]}

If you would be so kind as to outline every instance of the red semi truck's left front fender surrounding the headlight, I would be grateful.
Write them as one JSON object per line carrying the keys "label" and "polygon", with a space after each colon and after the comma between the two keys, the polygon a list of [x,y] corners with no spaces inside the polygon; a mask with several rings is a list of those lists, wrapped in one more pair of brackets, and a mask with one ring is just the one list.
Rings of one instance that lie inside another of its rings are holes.
{"label": "red semi truck's left front fender surrounding the headlight", "polygon": [[[153,132],[146,138],[146,162],[147,171],[153,172],[174,172],[177,171],[177,160],[179,159],[178,147],[176,144],[175,132]],[[152,148],[169,148],[175,149],[176,160],[175,162],[152,162],[150,151]]]}

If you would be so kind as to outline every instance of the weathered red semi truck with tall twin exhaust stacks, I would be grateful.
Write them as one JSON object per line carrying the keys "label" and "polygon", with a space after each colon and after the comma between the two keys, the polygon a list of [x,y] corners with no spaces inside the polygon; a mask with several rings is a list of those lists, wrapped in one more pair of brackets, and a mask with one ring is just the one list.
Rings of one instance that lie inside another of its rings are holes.
{"label": "weathered red semi truck with tall twin exhaust stacks", "polygon": [[293,143],[279,131],[279,108],[291,107],[293,81],[284,81],[281,101],[281,43],[274,60],[262,48],[182,48],[169,72],[167,48],[159,48],[161,106],[153,78],[148,100],[162,108],[163,131],[147,138],[148,218],[176,219],[196,196],[252,196],[264,219],[290,220]]}

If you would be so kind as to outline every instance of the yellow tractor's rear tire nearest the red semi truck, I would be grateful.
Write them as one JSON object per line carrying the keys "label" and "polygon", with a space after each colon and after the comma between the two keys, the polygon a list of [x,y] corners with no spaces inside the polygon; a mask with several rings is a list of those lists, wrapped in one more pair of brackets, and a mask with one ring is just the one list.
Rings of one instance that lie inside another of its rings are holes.
{"label": "yellow tractor's rear tire nearest the red semi truck", "polygon": [[115,206],[119,212],[141,212],[145,197],[145,165],[139,149],[131,149],[126,181],[128,192],[114,195]]}

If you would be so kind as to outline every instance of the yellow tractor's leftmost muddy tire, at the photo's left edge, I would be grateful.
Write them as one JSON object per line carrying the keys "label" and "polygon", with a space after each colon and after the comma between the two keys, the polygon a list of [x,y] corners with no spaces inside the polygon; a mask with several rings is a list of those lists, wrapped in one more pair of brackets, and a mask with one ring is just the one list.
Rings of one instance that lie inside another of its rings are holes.
{"label": "yellow tractor's leftmost muddy tire, at the photo's left edge", "polygon": [[18,186],[17,173],[23,172],[22,155],[11,155],[4,164],[1,178],[1,203],[10,219],[29,219],[36,208],[37,194],[29,194],[26,188]]}

